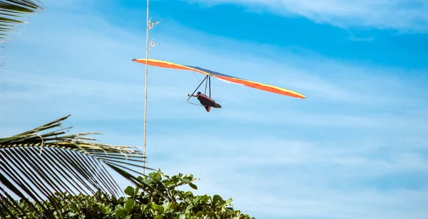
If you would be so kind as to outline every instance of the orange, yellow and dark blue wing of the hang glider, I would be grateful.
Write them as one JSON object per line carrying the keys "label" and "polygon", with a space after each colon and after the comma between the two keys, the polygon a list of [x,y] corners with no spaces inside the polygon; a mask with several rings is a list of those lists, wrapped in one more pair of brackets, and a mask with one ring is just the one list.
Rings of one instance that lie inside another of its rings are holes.
{"label": "orange, yellow and dark blue wing of the hang glider", "polygon": [[[134,58],[132,61],[136,61],[138,63],[146,64],[146,58]],[[169,61],[163,61],[158,59],[151,59],[149,58],[147,61],[149,66],[157,66],[161,68],[173,68],[173,69],[179,69],[179,70],[188,70],[188,71],[196,71],[198,73],[203,73],[208,76],[212,76],[214,78],[218,78],[222,81],[228,81],[230,83],[238,83],[244,86],[248,86],[251,88],[256,88],[262,91],[277,93],[285,96],[291,96],[295,98],[306,98],[302,93],[297,93],[296,91],[291,91],[285,88],[280,88],[277,86],[268,85],[265,83],[259,83],[255,81],[248,81],[243,78],[236,78],[233,76],[228,76],[223,73],[218,73],[215,71],[210,71],[208,69],[195,67],[195,66],[185,66],[178,63],[172,63]]]}

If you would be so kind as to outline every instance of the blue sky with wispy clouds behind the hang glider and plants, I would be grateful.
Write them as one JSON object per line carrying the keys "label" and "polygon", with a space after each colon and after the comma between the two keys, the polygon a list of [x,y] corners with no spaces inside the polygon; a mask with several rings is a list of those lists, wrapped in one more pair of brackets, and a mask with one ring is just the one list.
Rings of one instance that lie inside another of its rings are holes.
{"label": "blue sky with wispy clouds behind the hang glider and plants", "polygon": [[[143,145],[146,2],[45,0],[6,46],[1,136],[72,114],[74,131]],[[148,166],[256,218],[426,218],[426,1],[151,1],[151,58],[299,91],[149,68]],[[122,182],[121,185],[126,185]]]}

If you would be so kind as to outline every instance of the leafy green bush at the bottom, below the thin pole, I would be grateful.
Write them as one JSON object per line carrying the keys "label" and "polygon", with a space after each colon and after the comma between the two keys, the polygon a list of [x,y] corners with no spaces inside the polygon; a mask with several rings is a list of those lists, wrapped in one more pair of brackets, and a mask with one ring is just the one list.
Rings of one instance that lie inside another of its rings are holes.
{"label": "leafy green bush at the bottom, below the thin pole", "polygon": [[[44,208],[52,210],[55,218],[150,218],[150,219],[193,219],[193,218],[239,218],[253,219],[243,214],[240,210],[232,208],[232,198],[224,200],[220,195],[193,195],[191,191],[179,190],[182,185],[189,185],[197,189],[194,184],[197,178],[193,175],[165,175],[158,170],[149,173],[148,176],[138,177],[140,184],[135,188],[128,186],[124,192],[125,197],[114,198],[106,193],[98,192],[95,195],[70,195],[68,193],[56,193],[56,198],[61,200],[61,210],[54,210],[51,203],[46,202]],[[151,190],[156,192],[151,192]],[[159,194],[161,191],[162,194]],[[171,200],[164,197],[170,197]],[[9,209],[11,215],[4,218],[16,218],[19,215],[8,206],[7,203],[15,200],[5,199],[1,202],[0,210],[6,213]],[[37,214],[25,202],[19,202],[24,209],[24,218],[37,218]]]}

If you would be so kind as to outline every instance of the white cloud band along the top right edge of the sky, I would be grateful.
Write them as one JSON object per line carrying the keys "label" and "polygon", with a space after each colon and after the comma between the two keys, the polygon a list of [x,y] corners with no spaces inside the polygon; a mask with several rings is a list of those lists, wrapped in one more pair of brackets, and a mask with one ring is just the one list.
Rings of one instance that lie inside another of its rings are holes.
{"label": "white cloud band along the top right edge of the sky", "polygon": [[340,27],[368,26],[399,31],[428,31],[428,2],[424,0],[188,0],[212,6],[240,4],[253,11],[265,9],[285,16],[304,16]]}

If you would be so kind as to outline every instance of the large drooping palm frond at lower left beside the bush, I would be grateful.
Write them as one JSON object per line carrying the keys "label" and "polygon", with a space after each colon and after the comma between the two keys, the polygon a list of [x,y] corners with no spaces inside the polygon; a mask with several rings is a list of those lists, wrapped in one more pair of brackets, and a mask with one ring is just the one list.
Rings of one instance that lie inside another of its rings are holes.
{"label": "large drooping palm frond at lower left beside the bush", "polygon": [[[108,173],[107,166],[132,183],[140,183],[136,175],[143,174],[135,170],[136,167],[143,170],[140,148],[111,146],[87,137],[96,133],[68,134],[71,127],[50,131],[61,127],[61,121],[69,116],[0,138],[0,182],[4,187],[0,188],[0,198],[5,205],[19,210],[19,205],[11,203],[15,195],[35,211],[49,213],[51,209],[44,206],[53,205],[55,210],[63,208],[54,194],[64,191],[71,195],[101,191],[119,196],[121,188]],[[51,205],[44,205],[46,200]],[[0,210],[6,213],[2,206]]]}

